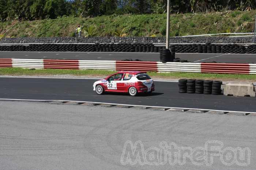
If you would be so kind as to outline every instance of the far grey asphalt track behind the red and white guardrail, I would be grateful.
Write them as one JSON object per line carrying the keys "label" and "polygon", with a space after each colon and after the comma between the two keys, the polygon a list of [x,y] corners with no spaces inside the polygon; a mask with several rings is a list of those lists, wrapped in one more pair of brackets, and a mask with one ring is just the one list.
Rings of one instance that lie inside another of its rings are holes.
{"label": "far grey asphalt track behind the red and white guardrail", "polygon": [[[159,61],[159,53],[97,53],[97,52],[1,52],[0,58],[24,59],[79,59],[79,60],[123,60],[140,59]],[[176,58],[190,62],[256,63],[256,54],[185,54],[177,53]]]}

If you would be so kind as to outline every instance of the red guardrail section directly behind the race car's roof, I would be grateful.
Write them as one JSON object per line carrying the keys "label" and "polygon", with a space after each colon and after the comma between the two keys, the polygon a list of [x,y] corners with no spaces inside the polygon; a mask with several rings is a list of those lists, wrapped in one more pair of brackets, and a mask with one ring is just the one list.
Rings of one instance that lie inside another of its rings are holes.
{"label": "red guardrail section directly behind the race car's roof", "polygon": [[157,71],[157,62],[116,61],[116,70]]}

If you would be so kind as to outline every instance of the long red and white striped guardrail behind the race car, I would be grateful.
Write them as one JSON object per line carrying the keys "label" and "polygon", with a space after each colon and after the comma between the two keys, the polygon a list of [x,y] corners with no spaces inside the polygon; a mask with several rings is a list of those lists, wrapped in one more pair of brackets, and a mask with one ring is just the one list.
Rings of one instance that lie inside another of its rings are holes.
{"label": "long red and white striped guardrail behind the race car", "polygon": [[154,72],[197,72],[256,74],[256,64],[245,63],[180,63],[154,61],[102,61],[65,59],[0,59],[0,67],[35,69],[139,70]]}

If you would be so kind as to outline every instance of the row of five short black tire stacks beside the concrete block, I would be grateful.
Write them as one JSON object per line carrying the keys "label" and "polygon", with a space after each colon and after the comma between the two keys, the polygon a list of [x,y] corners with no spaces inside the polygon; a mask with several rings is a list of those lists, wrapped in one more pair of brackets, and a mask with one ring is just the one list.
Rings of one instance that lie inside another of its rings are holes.
{"label": "row of five short black tire stacks beside the concrete block", "polygon": [[180,79],[179,93],[213,94],[220,95],[222,81]]}

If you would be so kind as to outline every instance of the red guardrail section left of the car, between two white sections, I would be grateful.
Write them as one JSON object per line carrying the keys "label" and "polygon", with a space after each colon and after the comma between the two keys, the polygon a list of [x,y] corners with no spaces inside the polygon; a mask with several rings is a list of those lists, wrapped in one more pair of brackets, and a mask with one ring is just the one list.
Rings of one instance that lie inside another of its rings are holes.
{"label": "red guardrail section left of the car, between two white sections", "polygon": [[44,59],[45,69],[79,69],[78,60]]}

